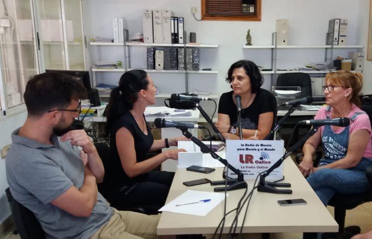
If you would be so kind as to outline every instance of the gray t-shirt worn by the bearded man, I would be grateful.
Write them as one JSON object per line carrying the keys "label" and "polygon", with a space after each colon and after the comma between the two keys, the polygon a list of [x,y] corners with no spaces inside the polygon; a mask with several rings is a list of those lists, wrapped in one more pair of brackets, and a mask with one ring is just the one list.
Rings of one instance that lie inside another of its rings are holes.
{"label": "gray t-shirt worn by the bearded man", "polygon": [[84,182],[84,165],[79,149],[69,141],[52,136],[54,145],[42,144],[12,135],[12,145],[6,156],[6,178],[14,199],[33,212],[46,238],[90,238],[113,213],[98,193],[89,217],[75,217],[50,202],[71,186],[77,189]]}

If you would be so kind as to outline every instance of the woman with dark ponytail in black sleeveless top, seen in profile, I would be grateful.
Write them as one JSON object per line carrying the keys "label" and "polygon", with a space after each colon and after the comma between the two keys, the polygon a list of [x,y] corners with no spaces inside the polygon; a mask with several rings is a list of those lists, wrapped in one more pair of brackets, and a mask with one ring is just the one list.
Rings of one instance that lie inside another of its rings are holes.
{"label": "woman with dark ponytail in black sleeveless top, seen in profile", "polygon": [[168,150],[148,159],[146,154],[187,139],[154,140],[143,114],[148,105],[155,104],[155,91],[150,75],[131,70],[121,76],[119,86],[111,92],[106,114],[111,160],[105,168],[109,202],[157,209],[165,204],[174,173],[152,170],[168,158],[177,160],[178,152],[185,150]]}

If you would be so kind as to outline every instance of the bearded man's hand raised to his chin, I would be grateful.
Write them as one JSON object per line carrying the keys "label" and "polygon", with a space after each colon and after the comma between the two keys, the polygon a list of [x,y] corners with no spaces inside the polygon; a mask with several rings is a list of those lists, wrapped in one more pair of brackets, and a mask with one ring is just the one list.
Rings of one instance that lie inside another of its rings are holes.
{"label": "bearded man's hand raised to his chin", "polygon": [[67,133],[63,134],[61,141],[71,140],[71,145],[80,146],[84,152],[87,154],[95,152],[95,147],[92,141],[90,141],[89,136],[83,129],[70,130]]}

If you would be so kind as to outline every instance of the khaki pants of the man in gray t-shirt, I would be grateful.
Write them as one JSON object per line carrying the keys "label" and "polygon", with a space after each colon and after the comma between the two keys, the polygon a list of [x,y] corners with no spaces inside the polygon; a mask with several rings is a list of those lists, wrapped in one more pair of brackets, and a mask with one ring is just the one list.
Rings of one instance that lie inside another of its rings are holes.
{"label": "khaki pants of the man in gray t-shirt", "polygon": [[117,211],[90,239],[158,239],[156,227],[160,215]]}

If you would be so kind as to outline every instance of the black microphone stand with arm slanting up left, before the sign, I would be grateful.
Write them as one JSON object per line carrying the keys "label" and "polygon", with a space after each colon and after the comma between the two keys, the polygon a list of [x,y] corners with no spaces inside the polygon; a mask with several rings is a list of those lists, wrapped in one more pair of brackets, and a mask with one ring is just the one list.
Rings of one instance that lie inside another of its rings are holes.
{"label": "black microphone stand with arm slanting up left, before the sign", "polygon": [[[218,161],[223,163],[225,166],[229,167],[230,170],[232,170],[234,173],[236,173],[236,175],[238,175],[238,178],[229,179],[227,181],[227,184],[229,186],[214,188],[215,192],[223,192],[225,190],[231,191],[231,190],[237,190],[237,189],[248,187],[248,184],[244,181],[244,174],[241,171],[239,171],[234,166],[229,164],[226,159],[223,159],[220,156],[218,156],[215,152],[213,152],[207,145],[205,145],[198,138],[194,137],[189,131],[187,131],[187,128],[185,127],[176,127],[176,128],[181,129],[182,134],[185,135],[188,139],[191,139],[191,141],[193,141],[196,145],[198,145],[202,151],[210,153],[213,158],[217,159]],[[221,183],[215,184],[216,182],[221,182]],[[211,182],[211,185],[222,185],[226,183],[226,181],[216,181],[216,182]]]}

